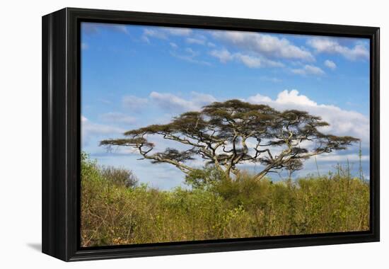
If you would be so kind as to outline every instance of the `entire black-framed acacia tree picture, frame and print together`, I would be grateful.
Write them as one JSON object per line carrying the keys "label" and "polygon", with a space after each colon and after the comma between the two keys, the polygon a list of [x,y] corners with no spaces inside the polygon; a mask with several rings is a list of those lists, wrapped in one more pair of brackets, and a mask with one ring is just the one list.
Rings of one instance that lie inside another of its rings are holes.
{"label": "entire black-framed acacia tree picture, frame and print together", "polygon": [[379,241],[379,28],[42,17],[42,252]]}

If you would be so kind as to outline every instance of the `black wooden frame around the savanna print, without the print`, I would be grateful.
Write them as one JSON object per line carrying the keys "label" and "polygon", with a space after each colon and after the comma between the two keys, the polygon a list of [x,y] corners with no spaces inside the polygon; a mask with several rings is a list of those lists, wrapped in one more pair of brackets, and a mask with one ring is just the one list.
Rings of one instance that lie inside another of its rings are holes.
{"label": "black wooden frame around the savanna print, without the print", "polygon": [[[80,23],[128,23],[370,40],[370,230],[81,248]],[[242,251],[380,239],[379,28],[132,11],[64,8],[42,17],[42,252],[63,261]]]}

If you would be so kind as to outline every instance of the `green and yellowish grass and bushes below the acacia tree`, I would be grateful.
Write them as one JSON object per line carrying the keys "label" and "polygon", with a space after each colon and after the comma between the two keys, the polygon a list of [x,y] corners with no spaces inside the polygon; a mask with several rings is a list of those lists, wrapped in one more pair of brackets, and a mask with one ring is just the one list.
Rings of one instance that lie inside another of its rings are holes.
{"label": "green and yellowish grass and bushes below the acacia tree", "polygon": [[81,245],[369,229],[369,185],[347,168],[293,183],[257,182],[248,173],[226,180],[211,169],[198,172],[187,177],[190,190],[158,190],[137,185],[130,171],[98,166],[83,154]]}

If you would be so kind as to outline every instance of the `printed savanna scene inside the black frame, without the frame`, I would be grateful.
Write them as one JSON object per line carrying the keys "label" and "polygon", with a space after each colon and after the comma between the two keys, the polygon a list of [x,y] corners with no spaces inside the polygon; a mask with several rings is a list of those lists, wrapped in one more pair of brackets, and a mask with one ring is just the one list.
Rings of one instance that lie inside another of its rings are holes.
{"label": "printed savanna scene inside the black frame, without the frame", "polygon": [[368,231],[369,40],[81,23],[81,246]]}

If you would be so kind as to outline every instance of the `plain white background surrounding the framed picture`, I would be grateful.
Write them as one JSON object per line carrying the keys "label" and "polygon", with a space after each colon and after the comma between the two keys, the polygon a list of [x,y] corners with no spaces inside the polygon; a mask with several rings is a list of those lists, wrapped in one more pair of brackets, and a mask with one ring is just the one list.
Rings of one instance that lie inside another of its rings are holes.
{"label": "plain white background surrounding the framed picture", "polygon": [[[388,268],[389,8],[386,1],[3,1],[1,268]],[[64,263],[40,253],[41,16],[66,6],[381,27],[381,242]],[[387,248],[385,250],[385,248]]]}

